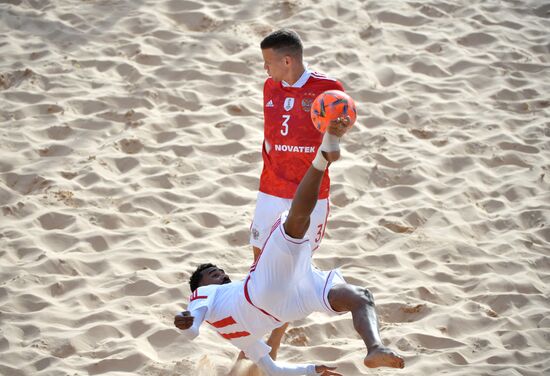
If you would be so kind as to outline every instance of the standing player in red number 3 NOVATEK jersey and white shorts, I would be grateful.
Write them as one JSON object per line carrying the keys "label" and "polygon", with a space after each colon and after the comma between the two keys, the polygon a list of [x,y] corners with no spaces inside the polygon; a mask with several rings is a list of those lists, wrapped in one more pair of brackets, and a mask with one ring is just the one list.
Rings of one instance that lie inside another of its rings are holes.
{"label": "standing player in red number 3 NOVATEK jersey and white shorts", "polygon": [[[326,90],[344,90],[337,80],[307,68],[302,41],[295,31],[274,31],[264,38],[260,47],[269,77],[264,84],[264,166],[250,228],[255,261],[273,223],[290,209],[296,188],[321,144],[323,135],[315,129],[310,117],[313,100]],[[325,234],[329,188],[327,169],[307,231],[313,251]],[[274,330],[268,340],[273,359],[286,327]]]}

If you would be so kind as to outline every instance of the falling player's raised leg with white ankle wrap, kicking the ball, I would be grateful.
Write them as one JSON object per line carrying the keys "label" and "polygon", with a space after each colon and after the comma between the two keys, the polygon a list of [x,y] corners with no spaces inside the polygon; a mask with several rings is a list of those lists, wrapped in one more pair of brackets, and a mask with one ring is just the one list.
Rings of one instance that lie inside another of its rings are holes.
{"label": "falling player's raised leg with white ankle wrap, kicking the ball", "polygon": [[340,137],[350,128],[348,116],[333,120],[323,136],[317,156],[298,185],[290,212],[284,224],[287,235],[302,239],[309,227],[309,216],[315,208],[319,187],[329,163],[340,158]]}

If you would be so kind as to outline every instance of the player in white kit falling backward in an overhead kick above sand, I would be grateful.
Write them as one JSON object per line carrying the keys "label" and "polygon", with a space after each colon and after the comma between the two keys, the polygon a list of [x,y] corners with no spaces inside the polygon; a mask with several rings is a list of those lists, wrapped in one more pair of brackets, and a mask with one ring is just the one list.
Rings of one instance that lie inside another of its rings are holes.
{"label": "player in white kit falling backward in an overhead kick above sand", "polygon": [[189,339],[199,334],[200,325],[206,321],[267,375],[338,376],[341,374],[334,367],[275,362],[262,338],[285,322],[303,319],[312,312],[351,312],[353,326],[367,347],[365,366],[404,367],[403,358],[382,344],[369,290],[347,284],[338,270],[312,267],[310,243],[304,238],[325,169],[339,159],[340,137],[348,129],[349,118],[330,125],[298,186],[288,216],[275,222],[244,281],[231,282],[212,264],[201,265],[193,273],[189,311],[174,319],[175,326]]}

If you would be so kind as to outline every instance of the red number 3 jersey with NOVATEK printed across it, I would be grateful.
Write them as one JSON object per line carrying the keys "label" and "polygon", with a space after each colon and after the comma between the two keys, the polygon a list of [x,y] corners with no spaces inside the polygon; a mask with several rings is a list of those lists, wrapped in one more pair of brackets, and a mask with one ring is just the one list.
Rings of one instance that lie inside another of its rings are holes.
{"label": "red number 3 jersey with NOVATEK printed across it", "polygon": [[[264,167],[260,192],[281,198],[294,198],[321,145],[323,134],[311,121],[313,100],[326,90],[342,90],[342,84],[321,73],[307,70],[292,86],[274,82],[264,84]],[[328,169],[321,182],[319,199],[328,197]]]}

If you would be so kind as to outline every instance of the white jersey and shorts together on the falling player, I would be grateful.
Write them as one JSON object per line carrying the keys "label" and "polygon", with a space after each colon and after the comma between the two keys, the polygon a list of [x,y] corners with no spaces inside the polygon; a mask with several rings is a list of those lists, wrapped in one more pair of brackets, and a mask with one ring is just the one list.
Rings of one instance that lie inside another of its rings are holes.
{"label": "white jersey and shorts together on the falling player", "polygon": [[345,283],[339,271],[313,268],[309,239],[289,237],[279,219],[244,281],[199,287],[188,309],[206,307],[214,330],[257,362],[270,351],[262,337],[273,329],[313,312],[337,313],[328,303],[336,283]]}

